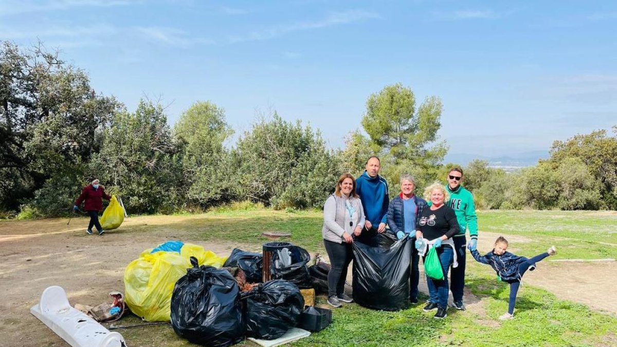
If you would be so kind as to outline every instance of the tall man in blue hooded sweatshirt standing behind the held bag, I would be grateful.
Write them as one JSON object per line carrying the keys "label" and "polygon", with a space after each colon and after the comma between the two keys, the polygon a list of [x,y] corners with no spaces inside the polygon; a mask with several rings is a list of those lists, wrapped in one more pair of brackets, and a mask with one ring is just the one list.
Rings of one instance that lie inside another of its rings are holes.
{"label": "tall man in blue hooded sweatshirt standing behind the held bag", "polygon": [[386,231],[387,206],[389,203],[387,182],[379,176],[381,162],[372,156],[366,161],[365,172],[356,180],[356,193],[360,196],[366,222],[358,240],[371,245],[376,233]]}

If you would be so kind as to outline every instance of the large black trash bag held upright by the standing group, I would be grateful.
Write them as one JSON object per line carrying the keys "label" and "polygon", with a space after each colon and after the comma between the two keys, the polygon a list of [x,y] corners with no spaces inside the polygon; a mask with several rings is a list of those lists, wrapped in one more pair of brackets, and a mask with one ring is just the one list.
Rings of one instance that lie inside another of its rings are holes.
{"label": "large black trash bag held upright by the standing group", "polygon": [[[384,233],[376,237],[391,239]],[[354,301],[360,306],[384,311],[407,308],[410,304],[409,272],[412,261],[412,240],[402,238],[390,248],[370,247],[354,242],[352,249]]]}

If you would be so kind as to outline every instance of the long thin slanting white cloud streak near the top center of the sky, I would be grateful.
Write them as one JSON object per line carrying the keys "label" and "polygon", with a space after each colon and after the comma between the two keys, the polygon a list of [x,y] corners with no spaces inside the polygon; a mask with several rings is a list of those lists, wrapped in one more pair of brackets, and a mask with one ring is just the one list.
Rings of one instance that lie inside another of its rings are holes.
{"label": "long thin slanting white cloud streak near the top center of the sky", "polygon": [[268,40],[276,36],[284,35],[292,31],[312,30],[318,28],[332,27],[334,25],[347,24],[358,22],[366,19],[381,19],[379,14],[368,12],[365,10],[349,10],[345,12],[335,12],[327,17],[313,22],[295,22],[288,25],[273,27],[263,31],[252,31],[244,36],[232,36],[230,43],[238,43],[243,41]]}

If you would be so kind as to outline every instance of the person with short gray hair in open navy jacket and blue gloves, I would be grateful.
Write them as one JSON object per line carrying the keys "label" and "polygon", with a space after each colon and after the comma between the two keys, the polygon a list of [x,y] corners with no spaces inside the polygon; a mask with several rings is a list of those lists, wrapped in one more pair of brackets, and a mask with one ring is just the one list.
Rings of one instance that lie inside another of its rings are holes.
{"label": "person with short gray hair in open navy jacket and blue gloves", "polygon": [[[426,201],[419,198],[413,191],[416,188],[416,182],[412,175],[404,174],[400,176],[400,194],[390,201],[387,209],[387,225],[390,231],[396,235],[399,240],[404,237],[412,238],[412,243],[415,243],[416,238],[416,221],[426,207]],[[420,256],[415,245],[412,246],[412,270],[409,274],[409,299],[412,304],[418,303],[418,282],[420,282],[420,270],[418,263]]]}

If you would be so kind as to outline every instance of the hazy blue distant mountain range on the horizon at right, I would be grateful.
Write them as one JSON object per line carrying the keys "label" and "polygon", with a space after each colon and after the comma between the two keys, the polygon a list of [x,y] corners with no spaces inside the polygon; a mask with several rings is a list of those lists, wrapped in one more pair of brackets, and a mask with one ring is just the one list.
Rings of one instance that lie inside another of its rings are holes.
{"label": "hazy blue distant mountain range on the horizon at right", "polygon": [[513,171],[523,167],[536,165],[539,159],[547,159],[548,157],[548,151],[529,151],[498,157],[478,156],[476,154],[469,153],[448,153],[444,157],[444,163],[453,162],[465,166],[474,159],[480,159],[489,162],[490,167],[498,167],[506,171]]}

